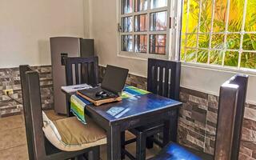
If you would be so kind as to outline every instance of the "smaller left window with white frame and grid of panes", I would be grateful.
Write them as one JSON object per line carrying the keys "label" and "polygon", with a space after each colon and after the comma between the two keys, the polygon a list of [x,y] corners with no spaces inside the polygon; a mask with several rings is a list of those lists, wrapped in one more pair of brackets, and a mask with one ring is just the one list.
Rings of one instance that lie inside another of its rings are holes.
{"label": "smaller left window with white frame and grid of panes", "polygon": [[121,54],[138,58],[168,58],[170,0],[119,2]]}

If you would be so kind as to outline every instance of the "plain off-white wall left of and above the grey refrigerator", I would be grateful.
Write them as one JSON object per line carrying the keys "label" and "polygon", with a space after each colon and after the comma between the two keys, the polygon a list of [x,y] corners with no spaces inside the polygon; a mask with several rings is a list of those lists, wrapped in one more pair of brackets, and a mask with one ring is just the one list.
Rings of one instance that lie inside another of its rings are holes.
{"label": "plain off-white wall left of and above the grey refrigerator", "polygon": [[1,0],[0,68],[50,65],[50,37],[84,37],[83,9],[83,0]]}

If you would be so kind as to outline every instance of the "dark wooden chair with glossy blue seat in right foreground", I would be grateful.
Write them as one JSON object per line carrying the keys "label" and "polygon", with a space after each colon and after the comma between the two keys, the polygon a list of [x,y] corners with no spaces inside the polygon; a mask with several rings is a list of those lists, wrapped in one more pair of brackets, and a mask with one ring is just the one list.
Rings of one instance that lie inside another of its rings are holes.
{"label": "dark wooden chair with glossy blue seat in right foreground", "polygon": [[220,88],[214,156],[170,142],[152,160],[238,160],[247,83],[247,75],[235,75]]}

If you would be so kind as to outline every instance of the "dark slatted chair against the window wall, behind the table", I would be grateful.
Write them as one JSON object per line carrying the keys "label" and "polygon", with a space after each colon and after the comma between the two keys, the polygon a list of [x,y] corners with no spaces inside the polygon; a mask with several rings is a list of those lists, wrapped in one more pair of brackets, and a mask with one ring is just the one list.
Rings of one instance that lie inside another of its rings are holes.
{"label": "dark slatted chair against the window wall, behind the table", "polygon": [[[166,61],[160,59],[148,59],[148,72],[147,72],[147,90],[153,94],[162,95],[166,98],[174,100],[179,99],[179,86],[180,86],[181,62]],[[170,140],[176,142],[177,129],[178,129],[178,110],[174,110],[174,114],[170,117]],[[141,126],[129,130],[136,138],[124,142],[125,135],[122,133],[122,158],[126,154],[131,159],[145,159],[146,147],[152,148],[153,141],[159,146],[165,146],[162,142],[155,139],[153,136],[162,132],[164,123],[156,122],[150,126]],[[166,138],[166,137],[163,137]],[[125,150],[125,145],[136,141],[136,158]],[[169,142],[169,138],[163,139],[163,142]]]}

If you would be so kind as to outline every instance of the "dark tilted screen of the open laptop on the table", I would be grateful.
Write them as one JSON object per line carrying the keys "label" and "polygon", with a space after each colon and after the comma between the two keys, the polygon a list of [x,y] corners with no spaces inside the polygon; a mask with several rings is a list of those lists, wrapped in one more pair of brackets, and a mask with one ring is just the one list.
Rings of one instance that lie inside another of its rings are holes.
{"label": "dark tilted screen of the open laptop on the table", "polygon": [[128,71],[125,68],[107,65],[102,81],[102,89],[109,90],[115,94],[121,93],[126,83]]}

